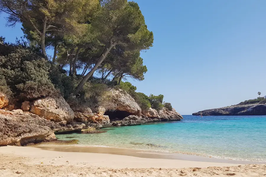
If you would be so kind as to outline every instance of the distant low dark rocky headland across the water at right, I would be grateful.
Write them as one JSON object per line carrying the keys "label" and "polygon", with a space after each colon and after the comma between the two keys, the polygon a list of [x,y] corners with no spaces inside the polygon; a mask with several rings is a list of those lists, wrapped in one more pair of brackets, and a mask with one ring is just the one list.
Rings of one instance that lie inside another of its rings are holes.
{"label": "distant low dark rocky headland across the water at right", "polygon": [[266,115],[266,104],[233,105],[216,109],[207,109],[193,113],[194,116],[244,116]]}

